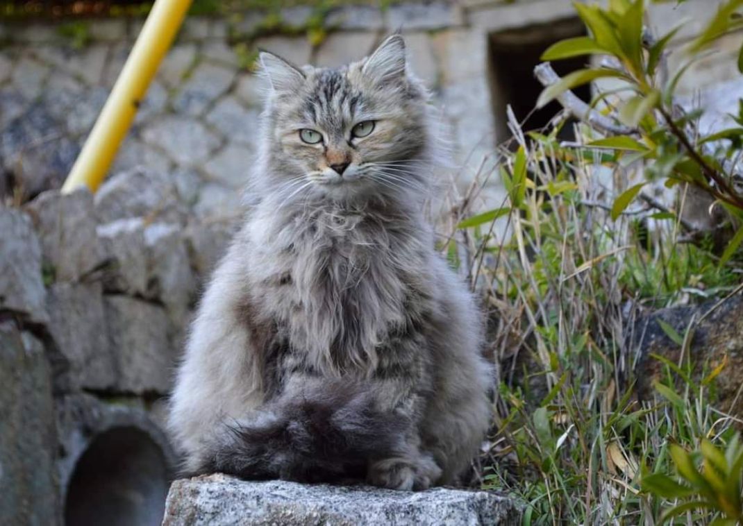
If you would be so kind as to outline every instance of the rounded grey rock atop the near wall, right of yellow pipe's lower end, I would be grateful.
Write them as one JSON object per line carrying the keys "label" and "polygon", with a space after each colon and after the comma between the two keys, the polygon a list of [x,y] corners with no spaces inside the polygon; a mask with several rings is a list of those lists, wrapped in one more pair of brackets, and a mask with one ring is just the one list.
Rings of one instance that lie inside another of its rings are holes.
{"label": "rounded grey rock atop the near wall, right of yellow pipe's lower end", "polygon": [[186,215],[172,179],[141,166],[108,179],[94,202],[101,224],[126,218],[178,223]]}

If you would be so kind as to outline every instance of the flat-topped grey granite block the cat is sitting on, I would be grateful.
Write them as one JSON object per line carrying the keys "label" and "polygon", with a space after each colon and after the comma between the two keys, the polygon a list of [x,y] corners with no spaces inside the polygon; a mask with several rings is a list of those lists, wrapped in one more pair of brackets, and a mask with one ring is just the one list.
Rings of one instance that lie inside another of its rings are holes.
{"label": "flat-topped grey granite block the cat is sitting on", "polygon": [[226,475],[175,481],[163,526],[515,525],[520,507],[485,491],[423,492],[372,487],[247,482]]}

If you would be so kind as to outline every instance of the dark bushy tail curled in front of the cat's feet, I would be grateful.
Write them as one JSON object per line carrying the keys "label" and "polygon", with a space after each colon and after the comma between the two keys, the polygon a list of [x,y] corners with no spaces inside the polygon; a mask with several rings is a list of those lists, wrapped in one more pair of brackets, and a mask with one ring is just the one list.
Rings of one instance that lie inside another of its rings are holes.
{"label": "dark bushy tail curled in front of the cat's feet", "polygon": [[304,482],[359,478],[370,461],[403,452],[408,426],[406,418],[375,408],[369,389],[329,381],[224,422],[198,472]]}

